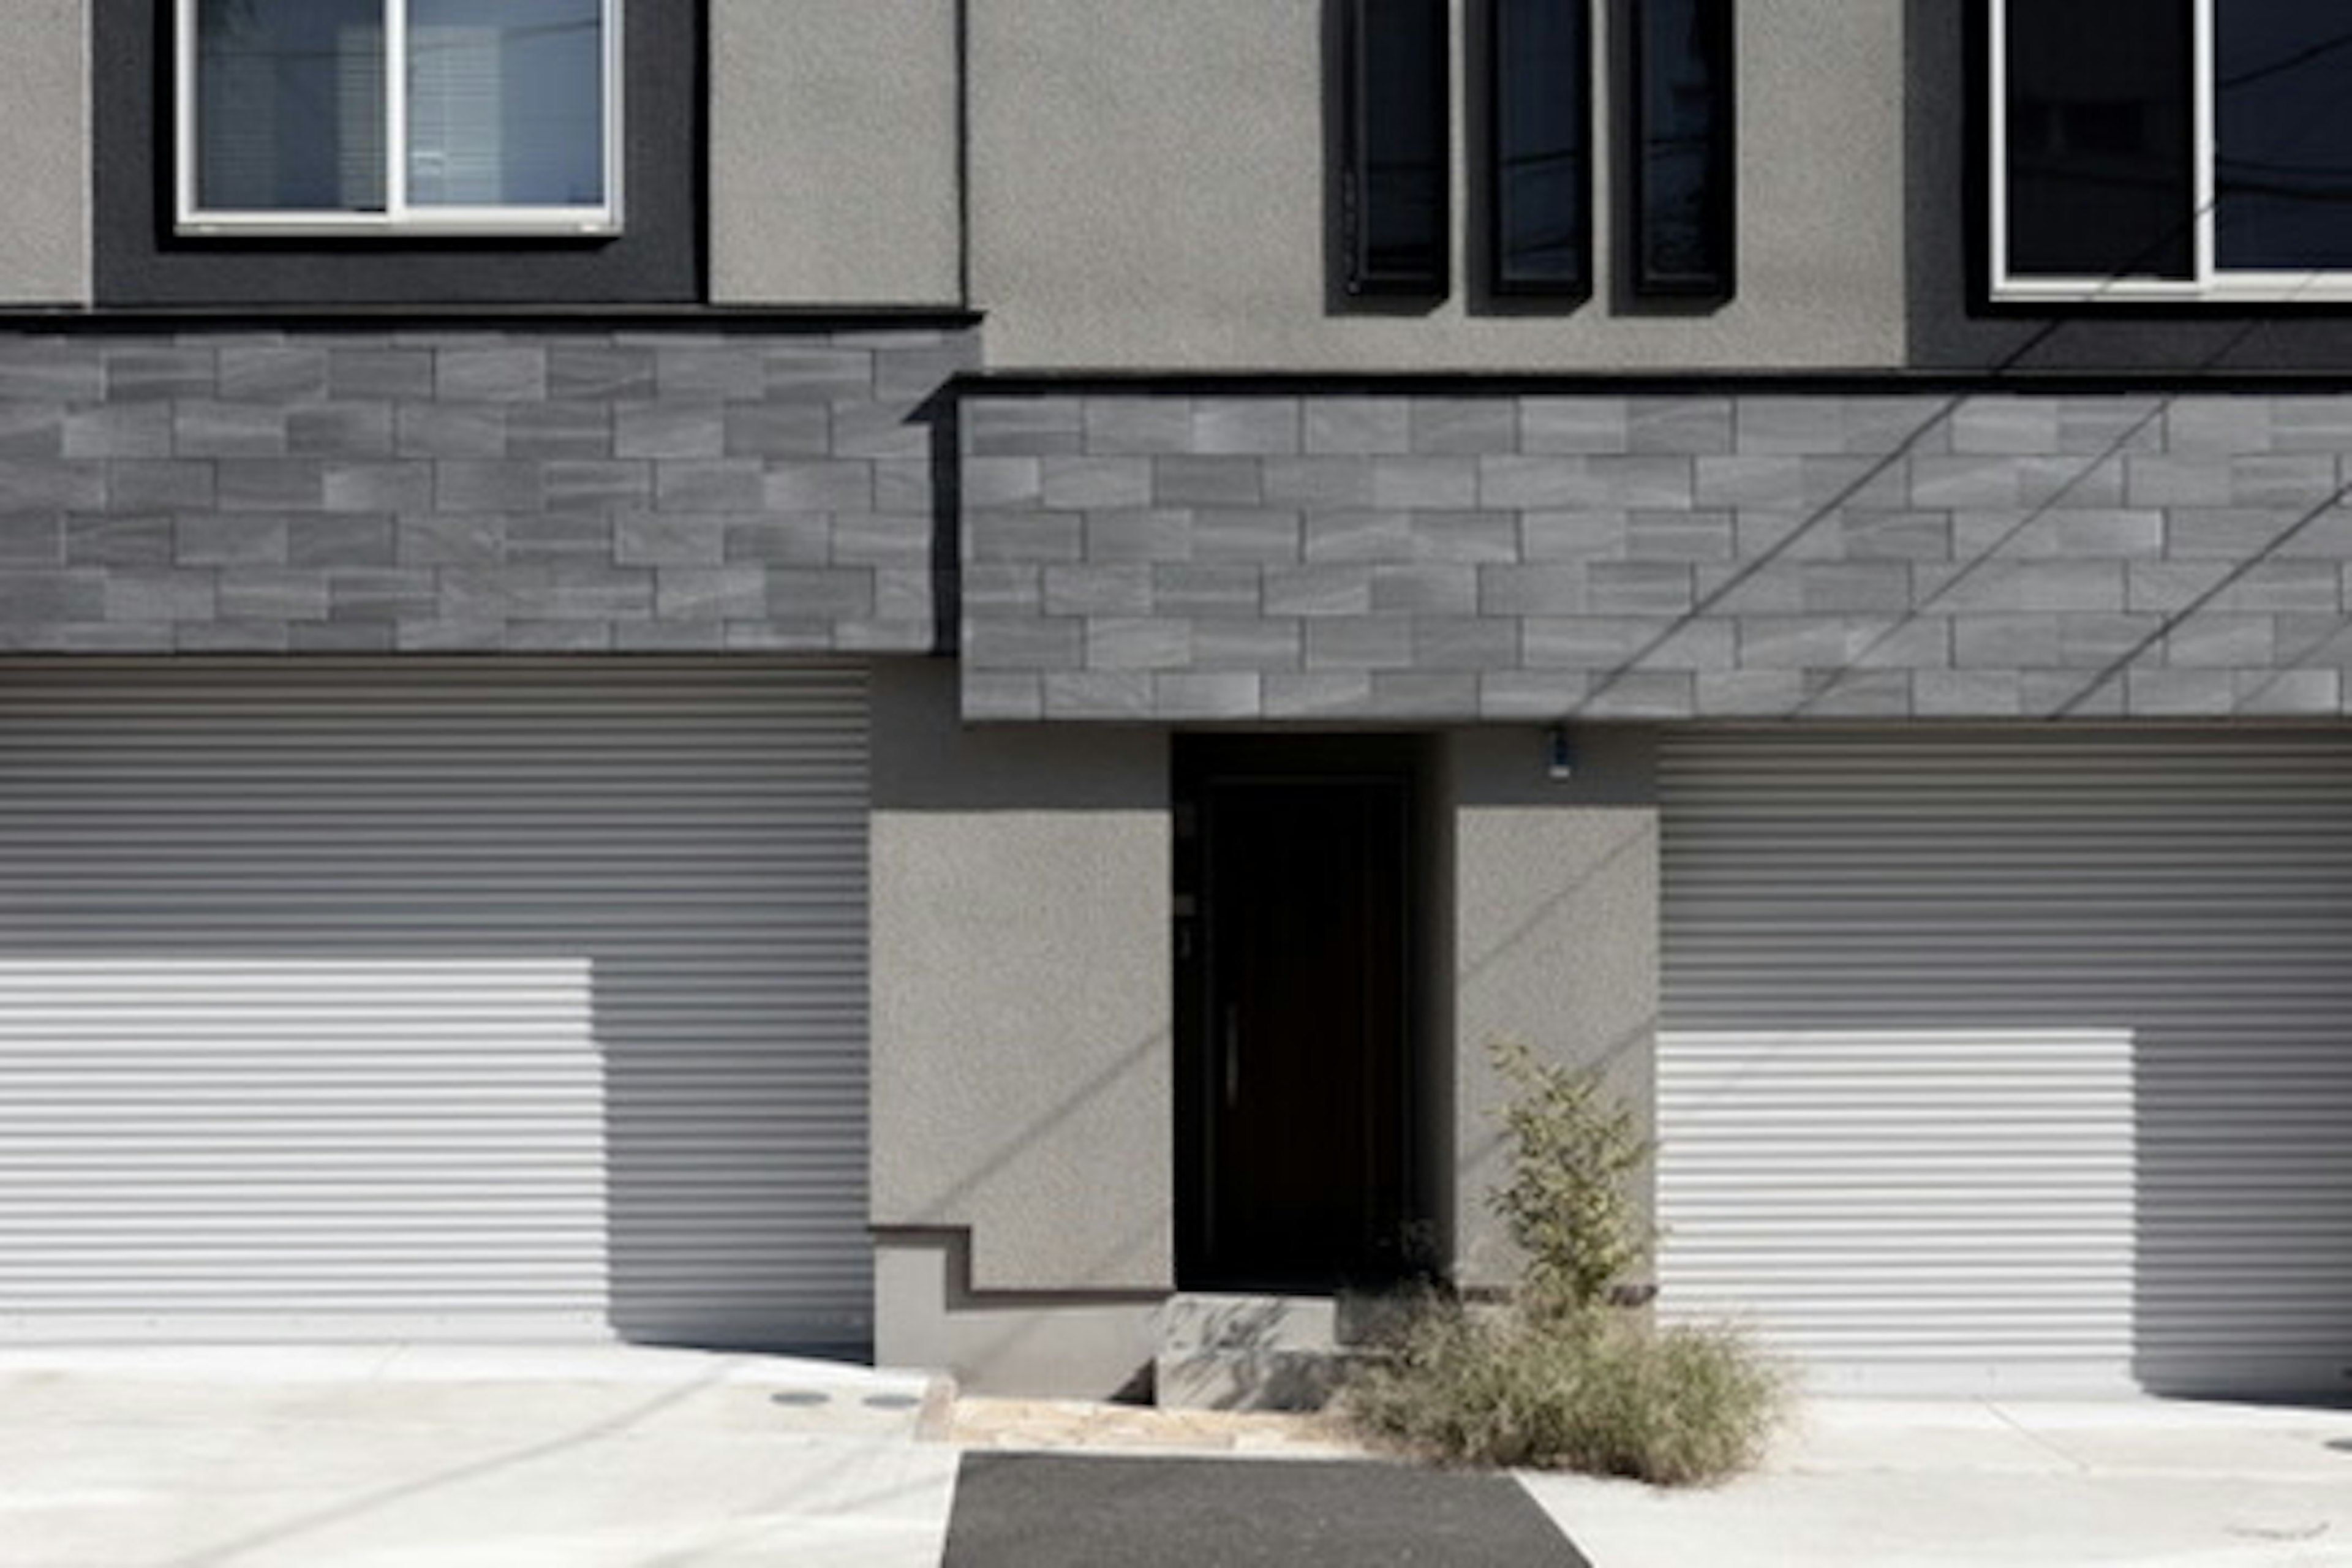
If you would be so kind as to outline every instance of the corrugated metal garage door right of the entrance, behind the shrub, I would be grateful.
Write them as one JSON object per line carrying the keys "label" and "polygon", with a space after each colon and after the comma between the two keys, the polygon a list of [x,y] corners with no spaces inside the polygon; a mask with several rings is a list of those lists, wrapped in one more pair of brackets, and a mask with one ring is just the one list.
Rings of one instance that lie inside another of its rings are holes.
{"label": "corrugated metal garage door right of the entrance, behind the shrub", "polygon": [[2352,736],[1663,752],[1661,1260],[1830,1382],[2352,1387]]}

